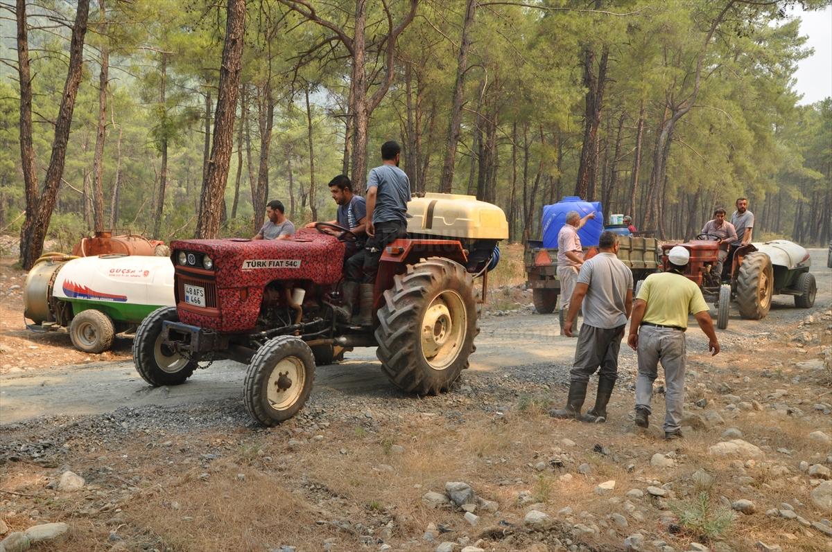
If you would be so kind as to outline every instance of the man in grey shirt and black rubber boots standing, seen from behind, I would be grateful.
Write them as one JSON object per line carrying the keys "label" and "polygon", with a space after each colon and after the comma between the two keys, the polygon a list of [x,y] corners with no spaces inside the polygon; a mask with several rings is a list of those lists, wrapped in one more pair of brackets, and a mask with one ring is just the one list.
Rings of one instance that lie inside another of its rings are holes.
{"label": "man in grey shirt and black rubber boots standing, seen from behind", "polygon": [[[575,293],[563,328],[563,332],[571,338],[572,324],[583,305],[583,326],[570,371],[567,406],[549,412],[557,418],[577,418],[595,423],[607,421],[607,403],[618,377],[618,352],[632,307],[632,272],[618,260],[618,235],[612,232],[601,234],[598,249],[601,252],[587,260],[577,276]],[[601,371],[598,372],[595,407],[581,416],[589,377],[599,366]]]}

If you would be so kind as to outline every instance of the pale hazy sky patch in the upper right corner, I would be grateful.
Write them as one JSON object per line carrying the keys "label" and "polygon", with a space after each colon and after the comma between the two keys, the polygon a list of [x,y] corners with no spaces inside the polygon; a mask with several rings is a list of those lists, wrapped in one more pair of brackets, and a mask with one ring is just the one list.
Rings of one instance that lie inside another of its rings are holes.
{"label": "pale hazy sky patch in the upper right corner", "polygon": [[800,34],[809,37],[807,47],[815,54],[800,62],[795,73],[795,90],[803,94],[801,104],[832,96],[832,6],[822,12],[804,12],[800,6],[790,12],[800,17]]}

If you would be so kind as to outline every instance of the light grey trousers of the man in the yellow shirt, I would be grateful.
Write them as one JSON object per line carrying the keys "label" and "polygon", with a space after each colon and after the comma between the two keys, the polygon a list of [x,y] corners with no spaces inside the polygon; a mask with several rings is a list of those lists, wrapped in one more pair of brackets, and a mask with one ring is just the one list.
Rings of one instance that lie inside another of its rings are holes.
{"label": "light grey trousers of the man in the yellow shirt", "polygon": [[685,333],[672,328],[641,326],[638,332],[636,407],[652,413],[650,400],[658,366],[665,369],[665,431],[681,426],[685,404]]}

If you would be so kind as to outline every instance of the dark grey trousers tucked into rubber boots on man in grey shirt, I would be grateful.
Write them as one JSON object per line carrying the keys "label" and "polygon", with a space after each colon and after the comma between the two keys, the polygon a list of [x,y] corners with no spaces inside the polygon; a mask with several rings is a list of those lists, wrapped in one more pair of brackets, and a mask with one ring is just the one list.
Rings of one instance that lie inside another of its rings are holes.
{"label": "dark grey trousers tucked into rubber boots on man in grey shirt", "polygon": [[618,377],[618,352],[621,350],[624,326],[596,328],[589,324],[581,327],[575,348],[575,362],[569,371],[572,382],[588,382],[598,367],[598,379],[613,382]]}

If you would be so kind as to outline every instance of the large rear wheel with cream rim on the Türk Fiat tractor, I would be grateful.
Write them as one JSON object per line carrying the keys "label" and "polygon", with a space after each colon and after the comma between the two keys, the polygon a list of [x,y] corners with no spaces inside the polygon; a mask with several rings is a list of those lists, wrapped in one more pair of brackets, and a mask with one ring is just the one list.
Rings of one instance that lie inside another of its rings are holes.
{"label": "large rear wheel with cream rim on the T\u00fcrk Fiat tractor", "polygon": [[468,367],[478,333],[471,275],[461,264],[431,257],[409,266],[384,292],[376,355],[396,387],[435,395]]}

